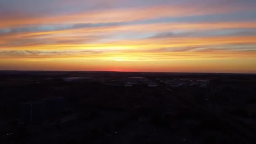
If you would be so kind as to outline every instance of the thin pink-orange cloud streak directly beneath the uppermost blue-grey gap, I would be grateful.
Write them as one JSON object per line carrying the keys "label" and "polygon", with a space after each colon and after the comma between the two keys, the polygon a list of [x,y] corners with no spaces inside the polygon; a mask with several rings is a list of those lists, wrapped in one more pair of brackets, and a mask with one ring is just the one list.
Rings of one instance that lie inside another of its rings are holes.
{"label": "thin pink-orange cloud streak directly beneath the uppermost blue-grey gap", "polygon": [[[152,23],[152,24],[127,24],[127,23],[99,23],[99,24],[49,24],[37,27],[16,27],[0,29],[1,37],[14,35],[15,37],[53,35],[59,33],[91,34],[92,32],[165,32],[160,35],[170,35],[168,31],[202,31],[216,29],[255,29],[256,21],[244,22],[200,22],[200,23]],[[167,32],[166,32],[167,31]],[[95,33],[94,33],[95,34]],[[175,34],[175,33],[172,33]]]}

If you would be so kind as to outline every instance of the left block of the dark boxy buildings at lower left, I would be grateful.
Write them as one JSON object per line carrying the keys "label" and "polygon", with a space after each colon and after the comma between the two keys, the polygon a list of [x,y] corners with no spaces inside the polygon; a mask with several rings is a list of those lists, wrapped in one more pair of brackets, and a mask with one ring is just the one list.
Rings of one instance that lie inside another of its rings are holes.
{"label": "left block of the dark boxy buildings at lower left", "polygon": [[31,101],[21,103],[21,122],[24,124],[41,123],[45,119],[43,102]]}

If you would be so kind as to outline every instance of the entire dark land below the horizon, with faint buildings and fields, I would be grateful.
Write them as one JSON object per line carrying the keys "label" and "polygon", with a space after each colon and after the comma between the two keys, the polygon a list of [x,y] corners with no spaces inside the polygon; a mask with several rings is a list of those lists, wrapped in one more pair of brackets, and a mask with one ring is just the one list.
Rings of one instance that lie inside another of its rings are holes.
{"label": "entire dark land below the horizon, with faint buildings and fields", "polygon": [[0,144],[255,144],[256,75],[0,71]]}

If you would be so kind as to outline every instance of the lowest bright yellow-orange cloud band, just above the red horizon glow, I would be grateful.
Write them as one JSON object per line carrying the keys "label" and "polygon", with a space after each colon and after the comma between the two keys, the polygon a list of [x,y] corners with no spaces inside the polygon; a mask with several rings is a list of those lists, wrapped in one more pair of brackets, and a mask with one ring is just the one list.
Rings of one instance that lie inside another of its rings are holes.
{"label": "lowest bright yellow-orange cloud band, just above the red horizon glow", "polygon": [[[256,44],[255,44],[256,45]],[[254,46],[255,46],[254,45]],[[101,61],[172,61],[200,59],[255,59],[253,45],[235,48],[235,45],[188,46],[140,49],[88,49],[55,51],[0,51],[0,59],[45,61],[83,59]]]}

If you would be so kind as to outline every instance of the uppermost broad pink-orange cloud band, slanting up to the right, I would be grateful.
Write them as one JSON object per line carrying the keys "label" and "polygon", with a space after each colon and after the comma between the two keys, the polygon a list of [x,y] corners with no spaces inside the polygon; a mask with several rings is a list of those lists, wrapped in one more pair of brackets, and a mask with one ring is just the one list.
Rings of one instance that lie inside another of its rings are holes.
{"label": "uppermost broad pink-orange cloud band, slanting up to the right", "polygon": [[[0,27],[14,27],[25,24],[73,24],[73,23],[113,23],[125,21],[141,21],[148,19],[158,19],[163,17],[181,17],[208,15],[216,13],[233,13],[239,11],[253,10],[252,5],[219,5],[218,7],[202,8],[202,5],[183,4],[183,5],[155,5],[133,8],[110,8],[97,9],[90,11],[80,11],[72,14],[50,14],[46,16],[32,14],[3,13],[4,17]],[[27,15],[27,17],[26,17]]]}

